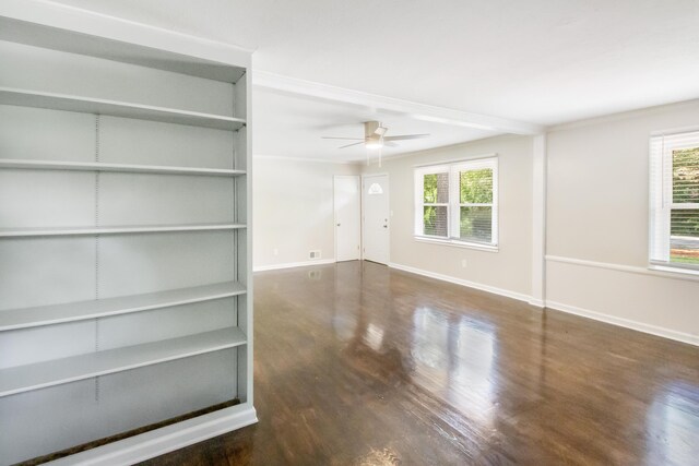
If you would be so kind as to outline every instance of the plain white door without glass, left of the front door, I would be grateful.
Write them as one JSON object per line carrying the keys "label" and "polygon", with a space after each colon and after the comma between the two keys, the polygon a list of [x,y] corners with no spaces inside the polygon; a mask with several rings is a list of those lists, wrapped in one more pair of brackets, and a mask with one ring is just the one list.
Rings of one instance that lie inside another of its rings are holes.
{"label": "plain white door without glass, left of the front door", "polygon": [[337,175],[334,178],[335,261],[360,259],[359,177]]}

